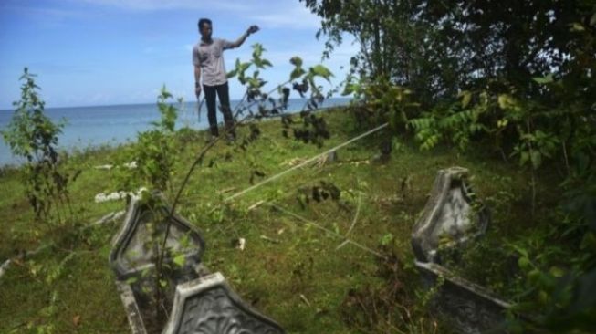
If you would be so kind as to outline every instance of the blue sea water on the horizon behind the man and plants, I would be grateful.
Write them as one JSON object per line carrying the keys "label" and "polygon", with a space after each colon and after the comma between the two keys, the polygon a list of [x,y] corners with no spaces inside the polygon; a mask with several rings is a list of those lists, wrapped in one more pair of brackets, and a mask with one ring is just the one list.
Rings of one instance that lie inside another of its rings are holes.
{"label": "blue sea water on the horizon behind the man and plants", "polygon": [[[235,109],[239,101],[231,101]],[[321,107],[345,105],[349,99],[326,99]],[[289,99],[286,112],[297,112],[305,107],[305,99]],[[176,105],[180,110],[176,128],[188,127],[196,130],[208,127],[207,110],[201,108],[201,121],[197,115],[197,103]],[[13,110],[0,110],[0,130],[5,130],[10,122]],[[58,137],[58,148],[70,151],[74,148],[85,149],[99,145],[117,145],[127,141],[134,141],[137,133],[149,130],[152,121],[160,119],[160,112],[155,103],[131,104],[118,106],[92,106],[47,108],[44,111],[52,121],[66,120],[66,125]],[[218,111],[217,120],[222,121],[223,115]],[[22,158],[12,155],[4,140],[0,140],[0,165],[19,164]]]}

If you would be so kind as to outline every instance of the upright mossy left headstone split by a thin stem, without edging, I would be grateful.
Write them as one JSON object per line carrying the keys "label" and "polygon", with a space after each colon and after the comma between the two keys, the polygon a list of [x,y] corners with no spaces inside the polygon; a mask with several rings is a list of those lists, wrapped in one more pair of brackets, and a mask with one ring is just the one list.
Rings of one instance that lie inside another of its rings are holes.
{"label": "upright mossy left headstone split by a thin stem, without edging", "polygon": [[[118,279],[126,279],[151,268],[165,233],[166,223],[154,222],[155,217],[167,217],[170,208],[159,194],[152,194],[153,204],[133,196],[120,232],[110,251],[110,266]],[[155,204],[157,203],[157,204]],[[165,218],[162,218],[165,220]],[[166,247],[185,256],[184,266],[193,268],[201,261],[204,240],[196,229],[182,217],[173,214]],[[167,259],[166,259],[167,260]]]}

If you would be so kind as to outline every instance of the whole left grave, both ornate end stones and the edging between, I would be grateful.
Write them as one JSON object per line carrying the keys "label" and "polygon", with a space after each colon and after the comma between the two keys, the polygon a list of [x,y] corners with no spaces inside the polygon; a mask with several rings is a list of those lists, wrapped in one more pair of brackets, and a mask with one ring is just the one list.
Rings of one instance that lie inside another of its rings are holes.
{"label": "whole left grave, both ornate end stones and the edging between", "polygon": [[[164,220],[170,210],[159,194],[144,199],[141,196],[131,198],[110,252],[110,266],[133,334],[148,333],[147,319],[143,318],[148,298],[144,291],[152,287],[154,259],[162,245]],[[246,305],[221,274],[209,274],[201,264],[204,240],[192,224],[175,214],[171,223],[166,242],[170,251],[165,259],[171,267],[167,273],[170,285],[165,293],[172,301],[172,315],[164,333],[284,333],[275,321]],[[183,256],[183,266],[174,266],[172,256]]]}

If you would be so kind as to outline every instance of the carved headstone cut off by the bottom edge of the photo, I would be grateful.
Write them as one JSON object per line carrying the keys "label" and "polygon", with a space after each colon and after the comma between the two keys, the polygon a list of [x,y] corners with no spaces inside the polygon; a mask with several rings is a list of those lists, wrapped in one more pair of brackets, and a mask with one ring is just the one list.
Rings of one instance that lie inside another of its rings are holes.
{"label": "carved headstone cut off by the bottom edge of the photo", "polygon": [[163,334],[281,334],[277,323],[246,305],[220,273],[178,285]]}

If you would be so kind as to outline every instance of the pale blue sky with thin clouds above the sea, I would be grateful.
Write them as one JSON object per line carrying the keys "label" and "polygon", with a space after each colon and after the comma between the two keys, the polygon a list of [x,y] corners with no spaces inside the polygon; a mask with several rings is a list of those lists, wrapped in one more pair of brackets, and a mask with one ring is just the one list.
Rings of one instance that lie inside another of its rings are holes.
{"label": "pale blue sky with thin clouds above the sea", "polygon": [[[261,31],[225,52],[226,68],[249,59],[261,43],[274,68],[262,74],[273,87],[288,78],[288,59],[320,62],[319,18],[298,0],[2,0],[0,109],[19,99],[23,68],[37,74],[47,107],[154,102],[163,84],[193,100],[191,50],[198,18],[209,17],[214,37],[235,40],[252,24]],[[323,62],[339,84],[356,46],[350,39]],[[344,67],[343,69],[341,67]],[[244,90],[230,82],[232,99]]]}

